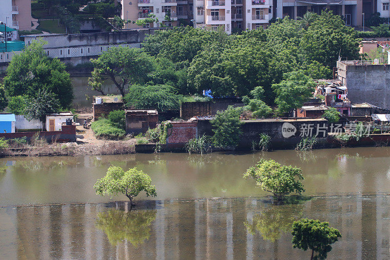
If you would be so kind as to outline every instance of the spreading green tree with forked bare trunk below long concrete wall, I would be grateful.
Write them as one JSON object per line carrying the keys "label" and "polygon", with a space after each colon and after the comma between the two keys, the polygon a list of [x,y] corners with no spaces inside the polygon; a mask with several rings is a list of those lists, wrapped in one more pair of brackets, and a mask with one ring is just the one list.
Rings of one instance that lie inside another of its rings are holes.
{"label": "spreading green tree with forked bare trunk below long concrete wall", "polygon": [[145,83],[155,66],[154,59],[141,49],[123,46],[110,47],[91,62],[94,71],[88,83],[93,90],[102,95],[104,80],[113,81],[120,94],[124,96],[125,88],[129,84]]}

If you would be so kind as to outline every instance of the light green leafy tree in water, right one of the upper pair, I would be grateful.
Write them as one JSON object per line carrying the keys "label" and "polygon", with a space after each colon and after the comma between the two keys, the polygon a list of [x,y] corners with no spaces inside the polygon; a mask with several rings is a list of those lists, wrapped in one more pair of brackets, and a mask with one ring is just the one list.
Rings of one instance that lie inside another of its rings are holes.
{"label": "light green leafy tree in water, right one of the upper pair", "polygon": [[244,178],[253,178],[262,190],[271,192],[277,200],[292,192],[301,194],[303,189],[302,170],[291,165],[280,165],[274,160],[261,159],[256,166],[249,168]]}

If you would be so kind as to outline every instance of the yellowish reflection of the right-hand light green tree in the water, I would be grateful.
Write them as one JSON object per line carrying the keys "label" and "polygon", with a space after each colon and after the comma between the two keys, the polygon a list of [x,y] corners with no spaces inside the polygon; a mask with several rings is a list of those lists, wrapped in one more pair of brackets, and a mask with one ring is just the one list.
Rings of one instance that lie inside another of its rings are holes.
{"label": "yellowish reflection of the right-hand light green tree in the water", "polygon": [[303,204],[271,206],[262,213],[254,215],[252,223],[245,221],[244,225],[252,235],[257,230],[264,240],[274,242],[282,233],[291,230],[292,222],[302,216],[303,207]]}

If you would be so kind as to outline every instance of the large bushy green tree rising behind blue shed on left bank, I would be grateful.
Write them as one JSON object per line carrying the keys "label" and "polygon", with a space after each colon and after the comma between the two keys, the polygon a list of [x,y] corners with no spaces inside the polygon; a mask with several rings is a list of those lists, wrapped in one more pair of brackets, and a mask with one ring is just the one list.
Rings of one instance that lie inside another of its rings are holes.
{"label": "large bushy green tree rising behind blue shed on left bank", "polygon": [[34,40],[23,52],[12,57],[4,78],[9,97],[37,97],[39,90],[53,93],[62,108],[69,108],[73,87],[65,63],[49,58],[43,51],[42,40]]}

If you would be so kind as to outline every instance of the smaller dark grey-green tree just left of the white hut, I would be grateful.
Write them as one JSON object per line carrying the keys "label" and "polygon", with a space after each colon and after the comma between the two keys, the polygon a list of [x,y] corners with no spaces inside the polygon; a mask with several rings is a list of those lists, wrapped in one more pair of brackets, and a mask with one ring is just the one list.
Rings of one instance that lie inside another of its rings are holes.
{"label": "smaller dark grey-green tree just left of the white hut", "polygon": [[39,89],[35,97],[26,100],[25,111],[27,120],[38,119],[43,125],[46,122],[46,114],[59,111],[60,104],[53,93],[46,89]]}

